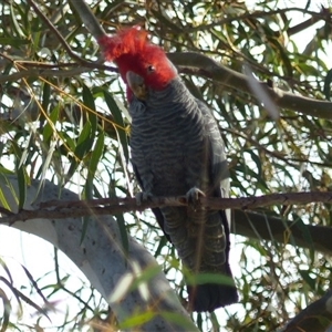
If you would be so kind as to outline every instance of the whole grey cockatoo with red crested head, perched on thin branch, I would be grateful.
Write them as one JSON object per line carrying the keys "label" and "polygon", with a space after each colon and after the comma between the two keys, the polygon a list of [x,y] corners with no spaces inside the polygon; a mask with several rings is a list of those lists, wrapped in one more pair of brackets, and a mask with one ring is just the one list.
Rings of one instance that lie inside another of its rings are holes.
{"label": "whole grey cockatoo with red crested head, perched on thin branch", "polygon": [[[165,51],[149,43],[147,32],[137,27],[98,43],[127,86],[132,164],[143,191],[156,197],[187,193],[194,208],[204,193],[228,197],[218,125],[207,105],[189,93]],[[187,270],[198,277],[217,276],[187,288],[190,310],[214,311],[238,300],[229,267],[229,214],[189,210],[153,208]]]}

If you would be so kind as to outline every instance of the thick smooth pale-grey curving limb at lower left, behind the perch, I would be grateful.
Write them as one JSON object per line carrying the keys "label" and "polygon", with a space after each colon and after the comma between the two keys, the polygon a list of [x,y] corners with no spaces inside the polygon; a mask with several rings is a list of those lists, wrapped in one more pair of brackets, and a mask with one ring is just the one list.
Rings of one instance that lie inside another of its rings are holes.
{"label": "thick smooth pale-grey curving limb at lower left, behind the perch", "polygon": [[[10,209],[17,212],[19,181],[15,176],[7,176],[7,180],[2,178],[0,193],[6,197]],[[31,186],[27,188],[24,210],[33,214],[33,209],[42,200],[53,200],[59,196],[64,200],[79,199],[76,194],[51,181],[45,180],[41,184],[32,180]],[[3,207],[2,212],[6,212]],[[127,250],[124,250],[118,225],[112,217],[92,214],[89,216],[90,222],[83,242],[81,218],[68,216],[65,222],[35,218],[29,222],[15,222],[13,227],[43,238],[62,250],[108,302],[120,321],[120,329],[123,321],[149,312],[151,320],[138,322],[133,326],[134,330],[198,331],[154,257],[132,238],[128,238]],[[142,279],[144,287],[123,282],[124,278],[128,280],[128,277],[137,281],[137,273],[144,276],[145,271],[151,277]],[[178,317],[169,320],[167,319],[169,312]]]}

